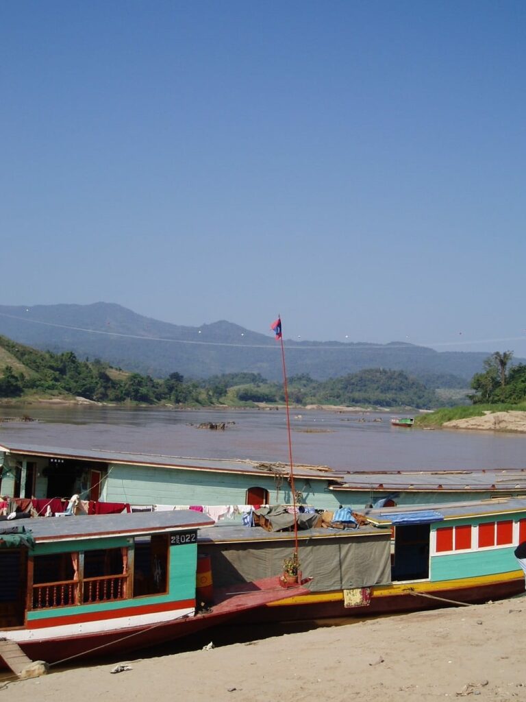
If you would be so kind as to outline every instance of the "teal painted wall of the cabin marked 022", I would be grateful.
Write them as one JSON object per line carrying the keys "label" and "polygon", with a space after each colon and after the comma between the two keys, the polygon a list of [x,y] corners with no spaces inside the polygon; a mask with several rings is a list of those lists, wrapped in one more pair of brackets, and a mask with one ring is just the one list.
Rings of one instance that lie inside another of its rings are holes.
{"label": "teal painted wall of the cabin marked 022", "polygon": [[[116,548],[118,545],[126,545],[126,539],[119,537],[104,540],[105,548]],[[76,550],[87,550],[81,548],[83,542],[62,544],[62,548],[50,552],[72,552]],[[38,554],[43,554],[41,546],[38,547]],[[46,544],[53,545],[53,544]],[[71,547],[71,548],[69,548]],[[92,542],[91,548],[101,548],[101,542]],[[86,614],[98,611],[117,611],[126,607],[143,607],[147,604],[159,604],[162,602],[180,602],[181,600],[194,600],[196,596],[196,568],[197,568],[197,544],[188,543],[184,545],[170,546],[170,573],[168,576],[168,593],[166,595],[152,595],[147,597],[137,597],[137,599],[116,600],[114,602],[100,602],[99,604],[81,604],[76,607],[56,607],[53,609],[40,609],[38,611],[28,611],[28,621],[36,619],[52,619],[58,616],[71,616],[73,614]]]}

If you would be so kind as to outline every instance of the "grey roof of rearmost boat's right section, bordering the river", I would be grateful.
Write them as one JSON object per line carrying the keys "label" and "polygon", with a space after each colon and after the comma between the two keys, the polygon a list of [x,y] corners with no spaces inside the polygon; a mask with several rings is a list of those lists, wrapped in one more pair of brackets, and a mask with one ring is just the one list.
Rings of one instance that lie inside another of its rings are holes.
{"label": "grey roof of rearmost boat's right section, bordering the river", "polygon": [[[342,485],[331,490],[383,490],[396,492],[459,492],[524,490],[526,468],[495,468],[480,470],[420,470],[420,471],[349,471],[342,475]],[[438,496],[440,500],[440,496]]]}

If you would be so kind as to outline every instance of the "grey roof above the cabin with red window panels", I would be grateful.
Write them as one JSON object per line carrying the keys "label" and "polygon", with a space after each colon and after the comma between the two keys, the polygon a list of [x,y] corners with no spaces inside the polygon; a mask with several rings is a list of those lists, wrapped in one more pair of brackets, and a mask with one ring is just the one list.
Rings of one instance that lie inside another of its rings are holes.
{"label": "grey roof above the cabin with red window panels", "polygon": [[367,510],[365,517],[382,526],[396,523],[441,522],[448,519],[467,517],[496,517],[497,515],[513,515],[526,512],[524,498],[497,498],[458,503],[443,503],[433,505],[406,505],[405,507],[384,507],[378,510]]}

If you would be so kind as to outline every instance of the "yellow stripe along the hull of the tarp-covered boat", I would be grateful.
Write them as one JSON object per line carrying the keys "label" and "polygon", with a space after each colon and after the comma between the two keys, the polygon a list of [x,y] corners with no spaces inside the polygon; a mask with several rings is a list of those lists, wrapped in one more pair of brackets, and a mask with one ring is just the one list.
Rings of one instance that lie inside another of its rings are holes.
{"label": "yellow stripe along the hull of the tarp-covered boat", "polygon": [[[391,585],[375,585],[371,588],[371,597],[392,597],[393,595],[405,595],[407,591],[412,592],[439,592],[441,590],[464,590],[466,588],[477,588],[483,585],[498,585],[513,580],[524,578],[522,570],[510,571],[509,573],[498,573],[496,575],[476,576],[473,578],[457,578],[457,580],[443,580],[437,583],[429,581],[409,581],[407,583],[392,583]],[[331,590],[330,592],[312,592],[310,595],[292,595],[277,602],[270,602],[267,607],[290,607],[291,604],[317,604],[321,602],[343,601],[342,590]]]}

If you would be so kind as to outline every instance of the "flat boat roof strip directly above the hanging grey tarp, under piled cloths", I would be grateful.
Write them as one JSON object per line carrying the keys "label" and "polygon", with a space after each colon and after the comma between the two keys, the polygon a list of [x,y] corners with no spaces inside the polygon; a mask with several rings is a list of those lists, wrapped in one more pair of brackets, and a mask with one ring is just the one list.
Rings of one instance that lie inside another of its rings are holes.
{"label": "flat boat roof strip directly above the hanging grey tarp, under piled cloths", "polygon": [[[334,538],[362,538],[365,536],[378,536],[379,531],[376,527],[366,525],[360,529],[300,529],[297,534],[298,542],[301,547],[302,541],[307,543],[313,539]],[[383,534],[380,534],[383,536]],[[263,541],[269,543],[271,541],[290,541],[294,542],[294,531],[267,531],[262,527],[245,527],[241,524],[216,524],[211,529],[203,529],[198,531],[197,541],[200,545],[217,544],[217,543],[247,543],[254,541]]]}

